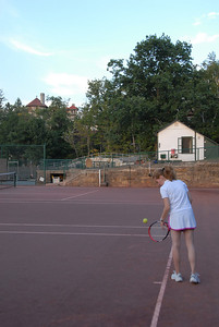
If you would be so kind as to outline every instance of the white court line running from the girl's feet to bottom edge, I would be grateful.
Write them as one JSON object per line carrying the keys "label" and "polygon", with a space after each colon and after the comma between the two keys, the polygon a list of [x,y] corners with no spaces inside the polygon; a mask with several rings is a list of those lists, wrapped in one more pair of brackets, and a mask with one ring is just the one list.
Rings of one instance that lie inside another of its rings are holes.
{"label": "white court line running from the girl's feet to bottom edge", "polygon": [[163,299],[163,295],[165,295],[165,289],[166,289],[166,286],[167,286],[167,282],[168,282],[168,276],[169,276],[169,271],[170,271],[171,262],[172,262],[172,249],[170,250],[167,267],[166,267],[165,275],[163,275],[163,278],[162,278],[159,295],[157,298],[157,303],[156,303],[156,306],[155,306],[155,312],[154,312],[154,316],[153,316],[150,327],[157,327],[157,323],[158,323],[158,318],[159,318],[159,314],[160,314],[160,308],[161,308],[161,304],[162,304],[162,299]]}

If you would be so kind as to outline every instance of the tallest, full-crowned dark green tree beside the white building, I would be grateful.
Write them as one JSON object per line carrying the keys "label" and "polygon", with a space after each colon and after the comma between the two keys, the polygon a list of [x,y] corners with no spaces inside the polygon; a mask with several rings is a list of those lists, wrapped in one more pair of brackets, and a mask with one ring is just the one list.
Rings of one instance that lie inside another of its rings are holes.
{"label": "tallest, full-crowned dark green tree beside the white building", "polygon": [[137,137],[142,148],[151,149],[156,130],[186,116],[183,97],[194,72],[191,50],[187,43],[174,45],[166,35],[146,36],[125,65],[123,60],[109,62],[114,96],[123,102],[118,118],[121,125],[126,122],[130,143]]}

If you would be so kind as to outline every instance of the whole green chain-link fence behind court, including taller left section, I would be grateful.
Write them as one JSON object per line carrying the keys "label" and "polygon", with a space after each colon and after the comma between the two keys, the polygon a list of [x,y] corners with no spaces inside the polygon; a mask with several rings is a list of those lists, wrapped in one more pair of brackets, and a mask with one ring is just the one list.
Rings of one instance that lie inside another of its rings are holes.
{"label": "whole green chain-link fence behind court, including taller left section", "polygon": [[[186,161],[217,161],[219,146],[195,149],[170,149],[162,152],[141,152],[135,154],[96,154],[77,159],[46,159],[46,145],[0,145],[0,172],[16,172],[17,184],[25,181],[29,184],[37,182],[53,182],[53,179],[64,179],[71,170],[108,169],[132,166],[145,166],[150,169],[157,164],[171,162],[179,165]],[[49,178],[48,178],[49,175]]]}

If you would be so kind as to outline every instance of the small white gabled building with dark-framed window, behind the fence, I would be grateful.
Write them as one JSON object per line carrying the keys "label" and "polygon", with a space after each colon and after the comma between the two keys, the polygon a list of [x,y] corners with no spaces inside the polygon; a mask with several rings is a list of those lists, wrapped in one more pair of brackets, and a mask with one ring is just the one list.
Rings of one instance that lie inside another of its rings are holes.
{"label": "small white gabled building with dark-framed window, behind the fence", "polygon": [[174,121],[158,132],[158,160],[196,161],[218,157],[219,145]]}

